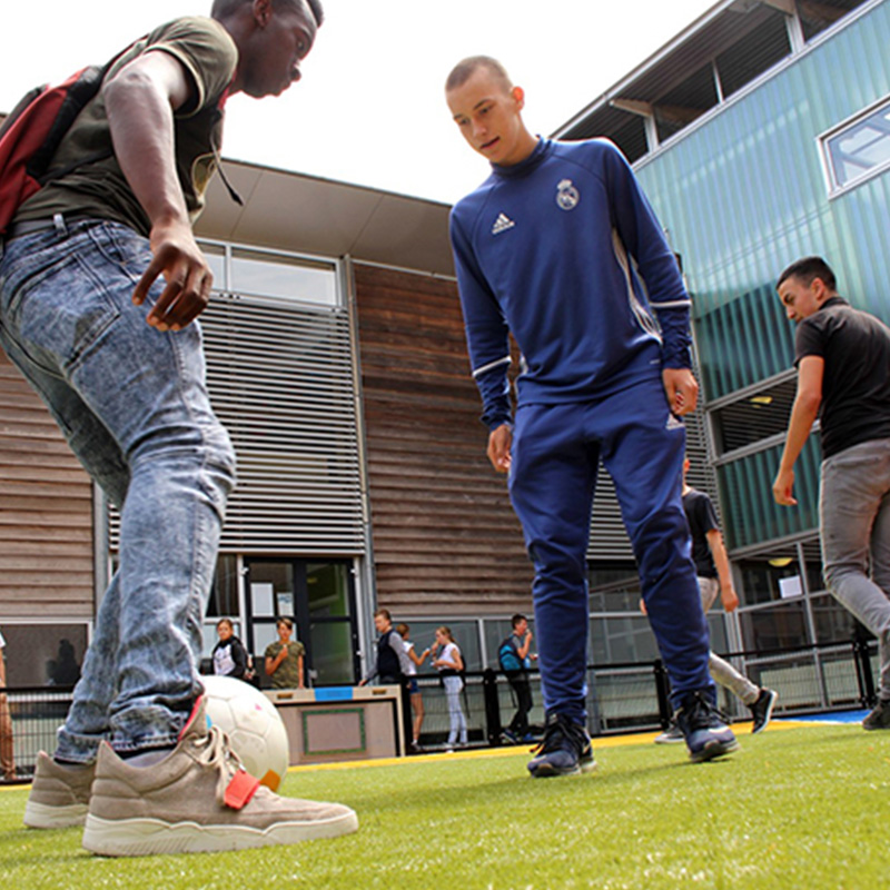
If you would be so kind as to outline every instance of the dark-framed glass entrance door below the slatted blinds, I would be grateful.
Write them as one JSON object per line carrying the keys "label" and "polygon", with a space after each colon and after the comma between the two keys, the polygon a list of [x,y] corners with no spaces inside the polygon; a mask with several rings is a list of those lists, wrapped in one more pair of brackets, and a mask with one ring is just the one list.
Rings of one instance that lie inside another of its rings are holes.
{"label": "dark-framed glass entrance door below the slatted blinds", "polygon": [[294,639],[306,647],[307,685],[358,682],[358,631],[353,566],[343,560],[245,558],[247,644],[266,683],[263,654],[278,639],[279,617],[294,620]]}

